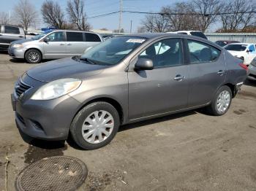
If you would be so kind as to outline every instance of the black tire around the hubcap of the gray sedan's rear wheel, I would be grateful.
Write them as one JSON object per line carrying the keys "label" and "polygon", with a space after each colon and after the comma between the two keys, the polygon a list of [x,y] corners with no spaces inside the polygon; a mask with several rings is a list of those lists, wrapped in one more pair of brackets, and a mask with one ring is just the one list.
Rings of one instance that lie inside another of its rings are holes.
{"label": "black tire around the hubcap of the gray sedan's rear wheel", "polygon": [[[225,112],[219,112],[217,109],[217,101],[220,93],[222,93],[223,91],[227,91],[230,94],[230,104],[227,106],[227,109],[225,109]],[[212,99],[211,104],[206,107],[206,112],[215,116],[223,115],[230,108],[231,102],[232,102],[232,92],[230,90],[230,87],[228,87],[227,85],[223,85],[222,87],[219,88],[219,90],[217,90],[217,93],[214,95],[214,98]]]}

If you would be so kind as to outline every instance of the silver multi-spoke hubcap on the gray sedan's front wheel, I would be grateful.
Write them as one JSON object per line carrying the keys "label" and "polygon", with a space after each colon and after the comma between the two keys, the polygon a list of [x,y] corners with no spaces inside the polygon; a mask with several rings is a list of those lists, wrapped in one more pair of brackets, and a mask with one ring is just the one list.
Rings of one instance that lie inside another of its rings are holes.
{"label": "silver multi-spoke hubcap on the gray sedan's front wheel", "polygon": [[83,139],[91,144],[99,144],[108,139],[114,128],[114,120],[109,112],[104,110],[89,114],[83,122]]}

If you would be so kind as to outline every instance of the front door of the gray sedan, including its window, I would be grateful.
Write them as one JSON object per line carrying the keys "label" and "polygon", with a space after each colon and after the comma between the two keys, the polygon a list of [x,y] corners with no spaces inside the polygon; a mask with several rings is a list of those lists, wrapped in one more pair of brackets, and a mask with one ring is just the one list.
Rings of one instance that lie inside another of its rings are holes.
{"label": "front door of the gray sedan, including its window", "polygon": [[187,107],[188,70],[181,39],[164,39],[139,56],[151,59],[153,70],[128,72],[129,120]]}

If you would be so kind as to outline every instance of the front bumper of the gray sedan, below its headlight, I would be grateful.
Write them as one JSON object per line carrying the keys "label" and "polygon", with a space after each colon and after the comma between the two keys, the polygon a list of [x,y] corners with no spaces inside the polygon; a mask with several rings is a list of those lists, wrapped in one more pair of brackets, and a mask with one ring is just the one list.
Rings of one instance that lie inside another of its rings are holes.
{"label": "front bumper of the gray sedan, below its headlight", "polygon": [[[30,91],[25,94],[30,94]],[[44,140],[67,139],[72,119],[80,106],[69,95],[38,101],[29,99],[28,95],[20,95],[18,98],[14,93],[11,98],[18,128],[31,137]]]}

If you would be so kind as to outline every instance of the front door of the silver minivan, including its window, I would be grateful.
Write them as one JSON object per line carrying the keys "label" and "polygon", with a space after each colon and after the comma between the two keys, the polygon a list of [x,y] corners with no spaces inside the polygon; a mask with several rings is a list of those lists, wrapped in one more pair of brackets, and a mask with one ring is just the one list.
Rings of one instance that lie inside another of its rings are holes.
{"label": "front door of the silver minivan, including its window", "polygon": [[66,38],[64,31],[56,31],[47,36],[48,42],[43,43],[46,59],[65,58],[67,55]]}

